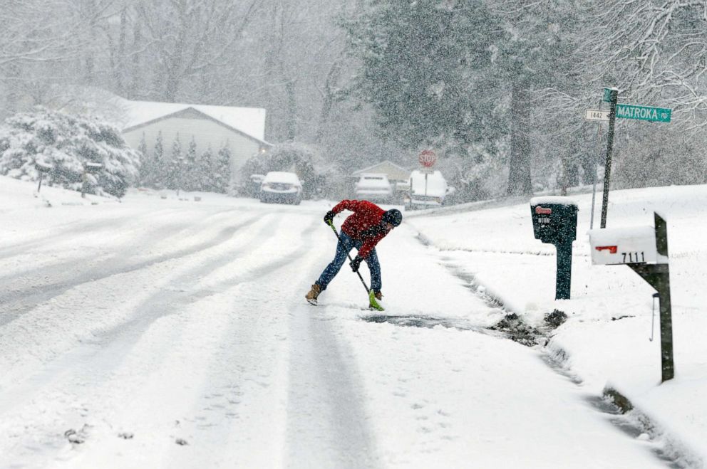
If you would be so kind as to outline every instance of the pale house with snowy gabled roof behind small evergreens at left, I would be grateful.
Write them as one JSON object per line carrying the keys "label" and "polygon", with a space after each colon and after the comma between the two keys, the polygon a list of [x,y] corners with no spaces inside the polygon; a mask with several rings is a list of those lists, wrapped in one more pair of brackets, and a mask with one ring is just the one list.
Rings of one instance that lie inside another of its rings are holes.
{"label": "pale house with snowy gabled roof behind small evergreens at left", "polygon": [[265,110],[257,107],[129,100],[121,100],[120,107],[125,115],[123,137],[131,147],[137,149],[144,138],[148,152],[152,152],[160,132],[167,158],[177,135],[182,154],[186,154],[192,138],[199,154],[208,147],[217,153],[228,146],[233,155],[231,174],[234,179],[247,159],[271,147],[263,139]]}

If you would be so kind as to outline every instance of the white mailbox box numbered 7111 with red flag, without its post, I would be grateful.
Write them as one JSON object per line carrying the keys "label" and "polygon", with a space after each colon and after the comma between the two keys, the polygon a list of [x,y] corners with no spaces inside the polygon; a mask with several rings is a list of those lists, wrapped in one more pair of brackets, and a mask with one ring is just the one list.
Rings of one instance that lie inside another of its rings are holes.
{"label": "white mailbox box numbered 7111 with red flag, without its post", "polygon": [[658,253],[653,226],[589,230],[592,264],[666,264]]}

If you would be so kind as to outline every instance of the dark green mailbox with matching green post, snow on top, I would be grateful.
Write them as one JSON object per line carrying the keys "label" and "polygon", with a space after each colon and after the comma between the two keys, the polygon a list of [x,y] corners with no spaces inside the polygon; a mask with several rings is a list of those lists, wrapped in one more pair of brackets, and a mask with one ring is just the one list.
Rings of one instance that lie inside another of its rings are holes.
{"label": "dark green mailbox with matching green post, snow on top", "polygon": [[535,239],[557,248],[555,300],[569,300],[572,287],[572,241],[577,239],[577,204],[567,197],[533,197],[530,214]]}

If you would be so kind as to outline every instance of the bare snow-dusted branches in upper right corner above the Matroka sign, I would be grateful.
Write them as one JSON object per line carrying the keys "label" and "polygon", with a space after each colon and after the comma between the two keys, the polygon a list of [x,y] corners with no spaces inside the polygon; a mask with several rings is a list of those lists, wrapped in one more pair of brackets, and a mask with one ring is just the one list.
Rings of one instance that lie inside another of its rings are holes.
{"label": "bare snow-dusted branches in upper right corner above the Matroka sign", "polygon": [[706,0],[602,0],[589,21],[595,77],[675,107],[686,127],[707,126]]}

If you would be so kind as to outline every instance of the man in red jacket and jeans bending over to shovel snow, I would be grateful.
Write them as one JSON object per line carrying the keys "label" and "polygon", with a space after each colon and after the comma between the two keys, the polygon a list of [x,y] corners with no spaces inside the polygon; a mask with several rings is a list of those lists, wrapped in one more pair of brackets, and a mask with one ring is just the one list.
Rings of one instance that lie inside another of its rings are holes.
{"label": "man in red jacket and jeans bending over to shovel snow", "polygon": [[[341,233],[339,243],[336,244],[336,255],[334,260],[329,263],[324,269],[324,272],[319,276],[319,280],[311,286],[309,293],[305,295],[307,301],[312,305],[316,305],[316,300],[319,294],[326,290],[326,285],[329,285],[332,279],[339,273],[341,265],[344,265],[346,257],[351,249],[358,249],[358,254],[351,260],[351,270],[358,273],[358,267],[361,261],[366,260],[368,270],[371,271],[371,290],[369,290],[369,307],[382,309],[376,300],[381,300],[381,264],[378,263],[378,255],[376,254],[376,244],[381,241],[390,231],[403,221],[403,214],[397,209],[385,211],[366,200],[344,200],[336,204],[333,209],[328,211],[324,216],[324,223],[334,228],[334,216],[341,211],[349,210],[354,214],[349,215],[344,224],[341,225]],[[361,277],[361,274],[358,273]],[[363,286],[368,289],[366,283]]]}

